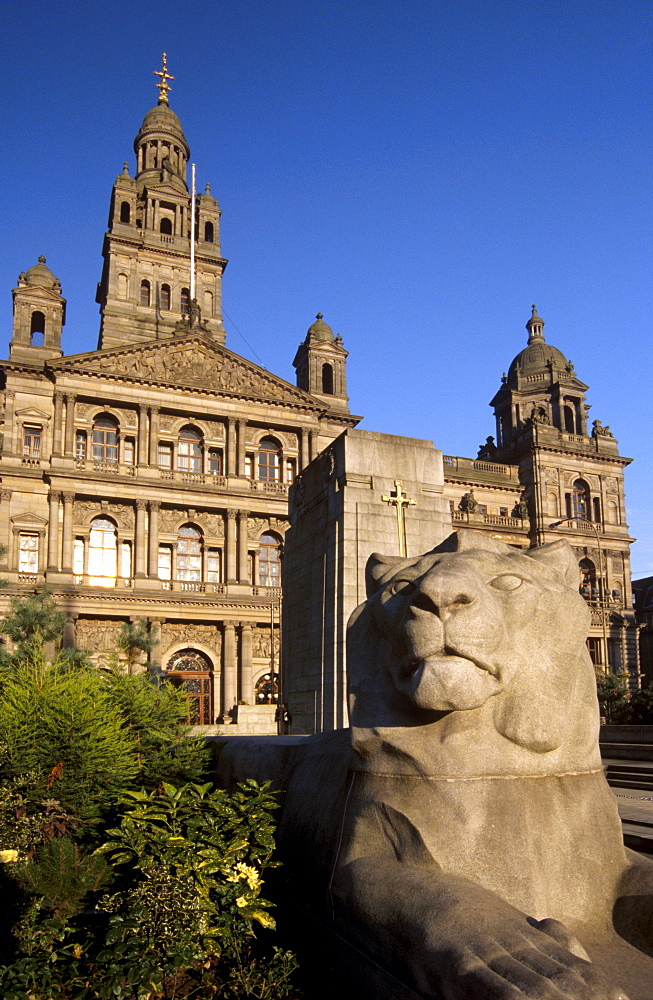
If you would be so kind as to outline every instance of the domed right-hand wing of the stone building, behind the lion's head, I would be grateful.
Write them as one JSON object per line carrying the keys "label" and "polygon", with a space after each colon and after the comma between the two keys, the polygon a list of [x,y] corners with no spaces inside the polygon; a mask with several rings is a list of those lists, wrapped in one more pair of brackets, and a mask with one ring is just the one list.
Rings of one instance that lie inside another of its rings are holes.
{"label": "domed right-hand wing of the stone building, behind the lion's head", "polygon": [[511,545],[565,538],[578,556],[579,586],[591,607],[594,664],[639,686],[624,468],[609,427],[588,426],[588,386],[544,338],[533,314],[528,343],[492,399],[496,438],[476,459],[444,457],[445,496],[454,527],[489,532]]}

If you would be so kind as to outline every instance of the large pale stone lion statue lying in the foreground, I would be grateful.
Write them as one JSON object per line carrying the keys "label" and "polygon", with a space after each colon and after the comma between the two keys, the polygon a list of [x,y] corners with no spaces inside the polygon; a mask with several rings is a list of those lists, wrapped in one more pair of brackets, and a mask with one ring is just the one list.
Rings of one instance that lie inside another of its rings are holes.
{"label": "large pale stone lion statue lying in the foreground", "polygon": [[285,790],[284,892],[341,982],[370,1000],[653,998],[653,863],[624,848],[603,775],[571,548],[459,531],[374,555],[367,577],[351,729],[219,758]]}

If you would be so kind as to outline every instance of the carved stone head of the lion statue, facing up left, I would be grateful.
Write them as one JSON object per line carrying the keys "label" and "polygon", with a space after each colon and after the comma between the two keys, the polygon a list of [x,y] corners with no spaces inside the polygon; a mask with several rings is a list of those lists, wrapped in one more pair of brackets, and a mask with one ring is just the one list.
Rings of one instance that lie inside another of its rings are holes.
{"label": "carved stone head of the lion statue, facing up left", "polygon": [[348,637],[353,727],[483,709],[508,740],[543,753],[574,713],[594,723],[589,610],[566,542],[522,551],[462,530],[415,559],[371,556],[367,580]]}

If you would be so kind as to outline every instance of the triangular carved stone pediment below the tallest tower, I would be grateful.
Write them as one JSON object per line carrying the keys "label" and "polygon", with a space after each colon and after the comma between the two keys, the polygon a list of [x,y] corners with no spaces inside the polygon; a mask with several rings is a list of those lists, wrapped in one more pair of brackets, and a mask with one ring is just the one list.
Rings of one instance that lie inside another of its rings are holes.
{"label": "triangular carved stone pediment below the tallest tower", "polygon": [[197,335],[78,354],[52,367],[317,408],[308,393]]}

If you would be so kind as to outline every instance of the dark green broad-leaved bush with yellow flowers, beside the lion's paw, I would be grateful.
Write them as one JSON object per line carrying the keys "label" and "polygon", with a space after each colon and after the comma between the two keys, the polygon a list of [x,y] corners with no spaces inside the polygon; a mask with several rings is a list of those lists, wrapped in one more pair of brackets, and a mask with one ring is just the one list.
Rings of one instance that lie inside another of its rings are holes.
{"label": "dark green broad-leaved bush with yellow flowers, beside the lion's paw", "polygon": [[254,933],[256,923],[274,927],[261,896],[274,805],[255,782],[235,795],[166,784],[129,793],[120,825],[90,857],[61,838],[18,863],[35,898],[15,931],[19,953],[0,968],[2,996],[287,997],[294,957],[273,947],[262,960]]}

